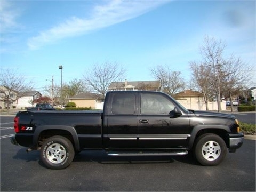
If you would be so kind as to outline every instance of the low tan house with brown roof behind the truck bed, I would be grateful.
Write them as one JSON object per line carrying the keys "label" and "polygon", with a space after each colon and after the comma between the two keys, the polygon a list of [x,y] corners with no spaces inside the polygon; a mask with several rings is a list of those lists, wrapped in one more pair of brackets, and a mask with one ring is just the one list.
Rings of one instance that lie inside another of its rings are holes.
{"label": "low tan house with brown roof behind the truck bed", "polygon": [[76,107],[91,107],[92,109],[103,109],[102,96],[96,93],[80,93],[69,98],[69,102],[76,103]]}

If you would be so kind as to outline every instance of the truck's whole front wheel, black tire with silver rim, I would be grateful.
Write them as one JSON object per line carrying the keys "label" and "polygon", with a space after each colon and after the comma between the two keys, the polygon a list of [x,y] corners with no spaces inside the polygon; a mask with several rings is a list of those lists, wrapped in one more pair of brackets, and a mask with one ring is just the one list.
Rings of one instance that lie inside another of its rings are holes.
{"label": "truck's whole front wheel, black tire with silver rim", "polygon": [[227,146],[219,135],[207,133],[197,138],[193,152],[200,164],[213,166],[223,161],[227,154]]}

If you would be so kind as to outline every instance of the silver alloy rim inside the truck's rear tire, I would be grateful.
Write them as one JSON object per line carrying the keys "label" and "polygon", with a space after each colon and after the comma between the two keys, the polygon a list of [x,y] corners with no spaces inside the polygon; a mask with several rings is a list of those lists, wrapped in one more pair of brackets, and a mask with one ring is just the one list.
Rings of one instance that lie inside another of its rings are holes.
{"label": "silver alloy rim inside the truck's rear tire", "polygon": [[46,149],[47,159],[54,164],[62,163],[66,156],[66,149],[59,143],[53,143]]}

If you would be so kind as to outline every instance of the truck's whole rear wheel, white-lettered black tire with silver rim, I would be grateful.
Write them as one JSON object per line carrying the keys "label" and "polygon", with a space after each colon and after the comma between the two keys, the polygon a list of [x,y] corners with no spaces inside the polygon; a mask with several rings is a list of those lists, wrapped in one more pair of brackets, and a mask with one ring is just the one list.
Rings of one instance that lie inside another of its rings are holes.
{"label": "truck's whole rear wheel, white-lettered black tire with silver rim", "polygon": [[65,169],[75,155],[71,141],[62,136],[53,136],[45,140],[41,147],[41,161],[50,169]]}

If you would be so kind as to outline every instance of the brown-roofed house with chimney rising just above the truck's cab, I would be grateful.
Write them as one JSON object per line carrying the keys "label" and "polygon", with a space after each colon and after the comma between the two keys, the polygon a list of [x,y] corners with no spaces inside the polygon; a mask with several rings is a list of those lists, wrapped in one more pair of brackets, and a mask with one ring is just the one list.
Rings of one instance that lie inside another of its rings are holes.
{"label": "brown-roofed house with chimney rising just above the truck's cab", "polygon": [[128,82],[126,79],[124,82],[113,82],[109,85],[108,91],[158,91],[158,81],[132,81]]}

